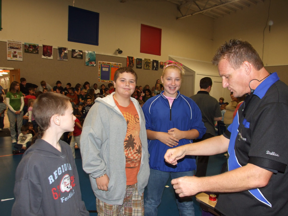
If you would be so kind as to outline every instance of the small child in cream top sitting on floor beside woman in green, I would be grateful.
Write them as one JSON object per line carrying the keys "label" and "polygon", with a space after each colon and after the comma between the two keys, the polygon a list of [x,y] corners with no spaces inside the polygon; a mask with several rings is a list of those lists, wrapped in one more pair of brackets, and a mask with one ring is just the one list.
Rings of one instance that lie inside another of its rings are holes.
{"label": "small child in cream top sitting on floor beside woman in green", "polygon": [[31,145],[32,134],[29,134],[29,129],[27,125],[22,125],[21,133],[18,136],[18,142],[15,143],[13,154],[24,153]]}

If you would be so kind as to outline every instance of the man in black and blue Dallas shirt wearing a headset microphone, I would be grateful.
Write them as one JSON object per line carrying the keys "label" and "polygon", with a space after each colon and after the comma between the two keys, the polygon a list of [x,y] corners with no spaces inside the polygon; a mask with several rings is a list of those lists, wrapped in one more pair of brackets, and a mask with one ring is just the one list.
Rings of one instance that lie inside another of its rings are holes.
{"label": "man in black and blue Dallas shirt wearing a headset microphone", "polygon": [[185,155],[214,155],[228,149],[228,172],[181,177],[171,183],[180,197],[202,191],[219,195],[223,215],[286,215],[288,212],[288,87],[269,74],[246,41],[230,40],[213,58],[222,86],[234,97],[248,94],[225,134],[168,149],[173,165]]}

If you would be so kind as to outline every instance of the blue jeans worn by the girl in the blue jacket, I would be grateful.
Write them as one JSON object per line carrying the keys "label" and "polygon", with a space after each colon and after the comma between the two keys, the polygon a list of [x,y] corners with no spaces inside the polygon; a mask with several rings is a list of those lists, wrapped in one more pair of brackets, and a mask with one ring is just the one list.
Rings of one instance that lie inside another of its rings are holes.
{"label": "blue jeans worn by the girl in the blue jacket", "polygon": [[[183,176],[193,176],[193,170],[188,172],[163,172],[150,168],[150,177],[147,185],[147,196],[144,201],[145,216],[156,216],[157,208],[161,203],[164,186],[169,179]],[[195,216],[192,198],[183,199],[176,195],[176,203],[181,216]]]}

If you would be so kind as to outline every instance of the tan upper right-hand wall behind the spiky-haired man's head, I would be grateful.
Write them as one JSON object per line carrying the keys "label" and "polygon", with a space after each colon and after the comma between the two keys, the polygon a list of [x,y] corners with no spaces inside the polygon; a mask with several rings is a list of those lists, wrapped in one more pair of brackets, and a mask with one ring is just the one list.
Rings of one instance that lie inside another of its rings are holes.
{"label": "tan upper right-hand wall behind the spiky-haired man's head", "polygon": [[[264,66],[288,65],[288,1],[271,0],[270,14],[269,3],[259,2],[215,20],[213,50],[229,39],[242,39],[251,43],[261,58],[263,53]],[[270,32],[268,25],[264,31],[267,20],[274,22]]]}

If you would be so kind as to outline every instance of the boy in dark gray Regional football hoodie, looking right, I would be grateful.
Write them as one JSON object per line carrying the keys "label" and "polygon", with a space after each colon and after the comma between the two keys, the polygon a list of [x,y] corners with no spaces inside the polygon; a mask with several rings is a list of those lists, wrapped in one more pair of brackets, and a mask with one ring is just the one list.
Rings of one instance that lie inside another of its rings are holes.
{"label": "boy in dark gray Regional football hoodie, looking right", "polygon": [[69,98],[41,94],[33,104],[33,115],[44,133],[17,167],[12,215],[89,215],[71,148],[60,140],[64,132],[74,130],[76,117]]}

